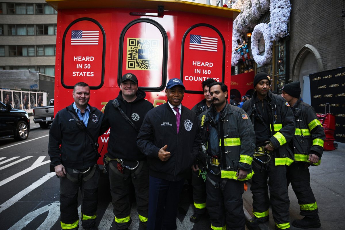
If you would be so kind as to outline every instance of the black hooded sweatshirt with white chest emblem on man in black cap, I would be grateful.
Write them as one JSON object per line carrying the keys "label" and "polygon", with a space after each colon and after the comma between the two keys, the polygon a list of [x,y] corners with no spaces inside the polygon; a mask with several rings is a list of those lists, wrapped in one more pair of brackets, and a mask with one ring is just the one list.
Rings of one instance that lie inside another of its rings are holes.
{"label": "black hooded sweatshirt with white chest emblem on man in black cap", "polygon": [[[116,98],[120,108],[127,117],[140,130],[145,114],[153,109],[153,105],[145,100],[146,93],[140,88],[137,91],[137,98],[132,102],[127,102],[122,97],[122,92]],[[110,137],[108,140],[108,156],[122,160],[143,160],[146,158],[137,147],[138,132],[121,115],[120,111],[110,100],[104,109],[104,119],[102,121],[101,134],[110,127]]]}

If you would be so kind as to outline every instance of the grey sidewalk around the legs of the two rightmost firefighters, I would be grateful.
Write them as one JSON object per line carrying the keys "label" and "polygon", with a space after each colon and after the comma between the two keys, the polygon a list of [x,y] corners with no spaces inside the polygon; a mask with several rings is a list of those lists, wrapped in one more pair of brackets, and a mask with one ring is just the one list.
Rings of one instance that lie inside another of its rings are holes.
{"label": "grey sidewalk around the legs of the two rightmost firefighters", "polygon": [[[333,151],[324,151],[322,162],[319,166],[309,167],[311,187],[316,198],[321,220],[320,230],[344,229],[345,219],[345,143],[338,143],[338,148]],[[252,192],[249,190],[243,194],[245,209],[251,217]],[[290,198],[290,222],[294,219],[302,219],[299,216],[299,205],[295,193],[289,186]],[[269,208],[269,221],[259,225],[261,230],[274,230],[272,209]],[[291,230],[297,230],[290,224]],[[312,228],[314,229],[314,228]]]}

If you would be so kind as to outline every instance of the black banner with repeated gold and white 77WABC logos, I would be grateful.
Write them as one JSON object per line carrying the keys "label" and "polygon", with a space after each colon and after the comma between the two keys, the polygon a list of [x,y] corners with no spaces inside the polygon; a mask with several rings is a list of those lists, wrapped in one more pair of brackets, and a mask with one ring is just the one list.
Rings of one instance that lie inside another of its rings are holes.
{"label": "black banner with repeated gold and white 77WABC logos", "polygon": [[312,106],[316,113],[325,113],[325,105],[330,103],[335,115],[334,138],[345,143],[345,67],[309,74],[309,80]]}

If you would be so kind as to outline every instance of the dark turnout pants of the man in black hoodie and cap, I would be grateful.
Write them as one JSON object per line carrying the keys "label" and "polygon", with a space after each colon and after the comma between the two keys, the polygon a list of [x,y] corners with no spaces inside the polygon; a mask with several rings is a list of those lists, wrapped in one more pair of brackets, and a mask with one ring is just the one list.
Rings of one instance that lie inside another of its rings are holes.
{"label": "dark turnout pants of the man in black hoodie and cap", "polygon": [[[139,161],[135,170],[124,168],[123,173],[117,169],[117,161],[109,161],[109,180],[112,205],[114,207],[115,225],[117,229],[130,226],[130,196],[129,188],[132,183],[135,189],[140,224],[146,226],[149,200],[149,174],[146,160]],[[129,161],[124,161],[125,164]],[[133,162],[131,162],[133,163]],[[136,162],[131,164],[135,167]],[[115,170],[114,170],[115,169]]]}

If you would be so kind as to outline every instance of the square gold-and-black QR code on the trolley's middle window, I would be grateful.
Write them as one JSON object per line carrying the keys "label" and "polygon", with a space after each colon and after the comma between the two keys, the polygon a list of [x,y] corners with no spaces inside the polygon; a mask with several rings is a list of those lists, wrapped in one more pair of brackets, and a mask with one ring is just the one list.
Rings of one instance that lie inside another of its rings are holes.
{"label": "square gold-and-black QR code on the trolley's middle window", "polygon": [[158,39],[127,39],[127,70],[158,69]]}

